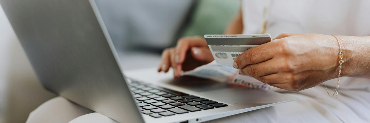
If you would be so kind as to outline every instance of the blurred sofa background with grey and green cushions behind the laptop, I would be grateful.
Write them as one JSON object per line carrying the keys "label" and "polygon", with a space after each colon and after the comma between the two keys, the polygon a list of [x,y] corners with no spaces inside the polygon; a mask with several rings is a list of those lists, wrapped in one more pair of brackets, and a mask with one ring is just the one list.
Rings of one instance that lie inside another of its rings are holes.
{"label": "blurred sofa background with grey and green cushions behind the laptop", "polygon": [[[124,70],[157,67],[180,37],[222,34],[240,0],[95,0]],[[24,123],[45,90],[0,8],[0,123]]]}

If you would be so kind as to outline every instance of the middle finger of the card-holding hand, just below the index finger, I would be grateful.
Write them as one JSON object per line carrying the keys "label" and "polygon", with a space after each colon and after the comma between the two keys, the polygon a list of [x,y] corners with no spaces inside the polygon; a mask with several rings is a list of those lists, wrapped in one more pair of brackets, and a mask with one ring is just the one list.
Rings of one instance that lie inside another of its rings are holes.
{"label": "middle finger of the card-holding hand, just below the index finger", "polygon": [[284,62],[283,59],[273,58],[258,64],[247,65],[243,69],[240,69],[240,73],[247,76],[260,77],[278,72],[287,72],[289,69],[285,69],[284,64],[280,64]]}

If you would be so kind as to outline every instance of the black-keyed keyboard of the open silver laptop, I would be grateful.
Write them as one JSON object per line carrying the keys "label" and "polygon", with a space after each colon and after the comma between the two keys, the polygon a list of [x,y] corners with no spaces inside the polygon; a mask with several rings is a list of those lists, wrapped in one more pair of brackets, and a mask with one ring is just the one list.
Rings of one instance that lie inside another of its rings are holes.
{"label": "black-keyed keyboard of the open silver laptop", "polygon": [[141,113],[155,118],[228,106],[175,90],[147,86],[138,81],[130,83],[130,89]]}

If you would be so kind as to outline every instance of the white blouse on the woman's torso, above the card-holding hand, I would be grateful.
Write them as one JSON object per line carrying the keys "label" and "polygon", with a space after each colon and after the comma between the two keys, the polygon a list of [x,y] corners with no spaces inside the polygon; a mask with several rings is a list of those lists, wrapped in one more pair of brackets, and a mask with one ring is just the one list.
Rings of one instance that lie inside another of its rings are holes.
{"label": "white blouse on the woman's torso, above the card-holding hand", "polygon": [[243,34],[260,33],[265,6],[272,38],[284,32],[370,35],[370,0],[242,0]]}

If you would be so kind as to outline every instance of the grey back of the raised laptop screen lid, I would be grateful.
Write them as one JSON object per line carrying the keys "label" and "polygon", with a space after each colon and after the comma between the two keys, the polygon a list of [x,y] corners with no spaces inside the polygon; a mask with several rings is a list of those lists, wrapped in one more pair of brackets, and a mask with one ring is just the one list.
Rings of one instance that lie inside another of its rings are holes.
{"label": "grey back of the raised laptop screen lid", "polygon": [[46,89],[119,122],[144,122],[94,0],[0,4]]}

